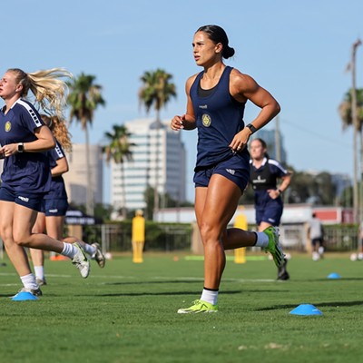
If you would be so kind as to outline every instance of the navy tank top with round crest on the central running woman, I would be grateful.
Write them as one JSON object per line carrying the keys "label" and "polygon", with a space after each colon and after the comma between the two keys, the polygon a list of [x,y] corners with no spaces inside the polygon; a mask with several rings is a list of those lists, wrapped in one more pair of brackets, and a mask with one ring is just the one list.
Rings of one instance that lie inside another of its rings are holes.
{"label": "navy tank top with round crest on the central running woman", "polygon": [[[230,158],[233,152],[229,145],[234,135],[244,128],[245,103],[239,103],[230,93],[232,69],[230,66],[224,68],[219,83],[207,96],[198,92],[204,71],[191,85],[191,102],[198,128],[197,170]],[[247,148],[241,153],[248,154]]]}

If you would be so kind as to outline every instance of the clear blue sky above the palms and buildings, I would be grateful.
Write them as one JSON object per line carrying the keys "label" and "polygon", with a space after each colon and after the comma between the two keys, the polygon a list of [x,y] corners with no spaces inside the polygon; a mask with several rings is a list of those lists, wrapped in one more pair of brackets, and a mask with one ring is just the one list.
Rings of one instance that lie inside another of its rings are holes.
{"label": "clear blue sky above the palms and buildings", "polygon": [[[353,173],[352,131],[342,132],[338,104],[351,84],[345,72],[351,45],[363,37],[361,0],[12,0],[1,5],[1,73],[62,66],[94,74],[106,106],[95,113],[92,143],[115,123],[148,116],[137,93],[145,71],[173,75],[178,97],[162,119],[185,110],[184,84],[201,71],[191,41],[201,25],[221,25],[236,54],[226,64],[250,74],[281,105],[280,129],[288,162],[296,170]],[[363,46],[357,54],[363,83]],[[258,110],[248,103],[245,121]],[[153,116],[150,113],[150,116]],[[266,126],[273,128],[273,122]],[[73,142],[84,142],[78,125]],[[183,132],[192,199],[195,132]],[[107,183],[107,181],[106,181]],[[108,201],[107,192],[104,193]]]}

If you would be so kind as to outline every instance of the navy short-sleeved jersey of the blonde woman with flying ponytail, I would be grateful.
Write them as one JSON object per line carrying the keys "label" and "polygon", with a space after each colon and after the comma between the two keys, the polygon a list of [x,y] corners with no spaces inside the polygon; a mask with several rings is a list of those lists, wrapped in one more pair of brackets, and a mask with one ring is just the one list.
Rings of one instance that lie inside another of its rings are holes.
{"label": "navy short-sleeved jersey of the blonde woman with flying ponytail", "polygon": [[[34,129],[43,126],[32,103],[18,99],[5,114],[0,111],[0,143],[34,142]],[[49,191],[51,172],[44,152],[16,152],[5,158],[2,186],[12,191]]]}

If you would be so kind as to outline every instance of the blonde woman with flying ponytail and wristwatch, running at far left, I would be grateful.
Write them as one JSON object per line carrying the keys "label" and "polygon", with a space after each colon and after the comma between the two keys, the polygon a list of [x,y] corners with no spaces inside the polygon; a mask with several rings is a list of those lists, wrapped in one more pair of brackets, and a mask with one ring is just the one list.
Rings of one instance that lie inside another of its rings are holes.
{"label": "blonde woman with flying ponytail and wristwatch, running at far left", "polygon": [[32,229],[44,194],[50,189],[50,164],[44,152],[55,147],[54,136],[33,103],[25,99],[29,90],[34,103],[51,113],[62,114],[66,83],[72,74],[61,68],[25,73],[8,69],[0,80],[0,153],[5,157],[0,187],[0,235],[24,288],[20,292],[42,295],[25,252],[25,247],[53,250],[72,259],[83,278],[90,262],[77,243],[54,240]]}

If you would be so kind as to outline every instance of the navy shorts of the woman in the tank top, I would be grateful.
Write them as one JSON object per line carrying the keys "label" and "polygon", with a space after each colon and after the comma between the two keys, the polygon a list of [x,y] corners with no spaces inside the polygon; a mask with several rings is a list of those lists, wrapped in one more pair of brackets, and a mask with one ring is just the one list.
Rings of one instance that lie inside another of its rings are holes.
{"label": "navy shorts of the woman in the tank top", "polygon": [[193,182],[195,187],[208,187],[213,174],[223,175],[225,178],[234,182],[240,187],[240,191],[246,189],[250,180],[250,159],[248,155],[238,153],[231,156],[230,159],[203,168],[196,168]]}

